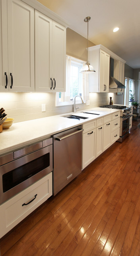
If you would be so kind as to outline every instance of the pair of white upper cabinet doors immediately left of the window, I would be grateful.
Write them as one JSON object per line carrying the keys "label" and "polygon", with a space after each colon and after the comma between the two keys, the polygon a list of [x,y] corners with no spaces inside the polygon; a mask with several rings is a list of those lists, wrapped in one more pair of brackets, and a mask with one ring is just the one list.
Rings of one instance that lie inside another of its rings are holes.
{"label": "pair of white upper cabinet doors immediately left of the window", "polygon": [[35,90],[66,88],[66,28],[35,10]]}

